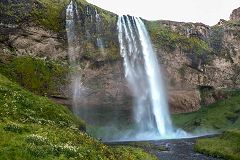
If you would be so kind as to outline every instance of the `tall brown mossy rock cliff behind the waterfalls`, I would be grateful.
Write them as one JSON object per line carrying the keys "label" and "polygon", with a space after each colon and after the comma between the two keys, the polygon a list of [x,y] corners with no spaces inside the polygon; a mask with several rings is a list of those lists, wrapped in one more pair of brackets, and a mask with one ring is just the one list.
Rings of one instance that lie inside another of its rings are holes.
{"label": "tall brown mossy rock cliff behind the waterfalls", "polygon": [[[83,0],[76,2],[80,17],[77,20],[80,49],[76,54],[85,86],[82,105],[130,107],[131,93],[119,54],[117,15]],[[68,3],[67,0],[1,1],[0,54],[30,55],[67,65],[64,26]],[[240,87],[238,15],[239,9],[234,10],[230,21],[221,20],[213,27],[201,23],[145,21],[166,75],[172,112],[198,110],[199,88]],[[104,54],[97,38],[103,39]],[[70,90],[56,90],[60,97],[71,97]],[[217,98],[210,99],[212,103]],[[71,104],[69,99],[59,101]]]}

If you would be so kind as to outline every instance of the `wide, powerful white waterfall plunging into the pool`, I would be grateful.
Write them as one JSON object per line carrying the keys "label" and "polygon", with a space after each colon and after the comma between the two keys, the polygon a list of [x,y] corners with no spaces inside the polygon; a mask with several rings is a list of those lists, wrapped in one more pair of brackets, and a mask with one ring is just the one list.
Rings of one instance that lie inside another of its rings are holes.
{"label": "wide, powerful white waterfall plunging into the pool", "polygon": [[140,18],[119,16],[120,52],[134,98],[135,139],[186,137],[172,126],[160,66]]}

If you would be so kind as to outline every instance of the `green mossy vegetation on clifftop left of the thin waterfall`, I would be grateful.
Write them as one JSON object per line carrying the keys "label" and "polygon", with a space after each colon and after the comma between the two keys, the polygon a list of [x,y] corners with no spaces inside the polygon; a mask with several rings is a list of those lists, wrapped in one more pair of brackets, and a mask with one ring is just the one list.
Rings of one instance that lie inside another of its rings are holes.
{"label": "green mossy vegetation on clifftop left of the thin waterfall", "polygon": [[[35,23],[53,31],[64,29],[64,21],[60,16],[68,0],[23,0],[21,2],[0,2],[6,23],[23,24]],[[7,22],[8,20],[8,22]]]}

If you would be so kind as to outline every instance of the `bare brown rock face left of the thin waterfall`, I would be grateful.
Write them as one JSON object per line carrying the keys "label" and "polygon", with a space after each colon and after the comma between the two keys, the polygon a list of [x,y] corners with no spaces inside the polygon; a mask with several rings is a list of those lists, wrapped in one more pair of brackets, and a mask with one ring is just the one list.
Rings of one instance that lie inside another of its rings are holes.
{"label": "bare brown rock face left of the thin waterfall", "polygon": [[51,33],[40,27],[25,27],[16,34],[10,35],[11,46],[16,48],[18,56],[30,55],[51,59],[66,59],[66,46],[56,33]]}

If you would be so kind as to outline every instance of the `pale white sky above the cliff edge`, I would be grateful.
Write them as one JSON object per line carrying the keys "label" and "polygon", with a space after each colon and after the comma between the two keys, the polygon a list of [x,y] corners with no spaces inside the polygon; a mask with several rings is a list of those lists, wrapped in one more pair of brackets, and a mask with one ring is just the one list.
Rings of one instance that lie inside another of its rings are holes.
{"label": "pale white sky above the cliff edge", "polygon": [[202,22],[215,25],[229,20],[240,0],[87,0],[116,14],[130,14],[147,20]]}

